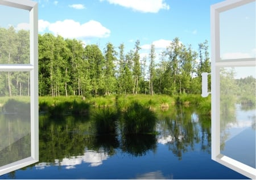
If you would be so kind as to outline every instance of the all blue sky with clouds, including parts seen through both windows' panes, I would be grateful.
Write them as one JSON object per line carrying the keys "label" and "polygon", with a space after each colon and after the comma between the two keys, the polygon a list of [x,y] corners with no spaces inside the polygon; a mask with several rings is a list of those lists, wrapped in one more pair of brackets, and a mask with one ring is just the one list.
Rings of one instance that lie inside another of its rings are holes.
{"label": "all blue sky with clouds, including parts seen through both windows' panes", "polygon": [[[123,43],[125,52],[133,49],[135,41],[140,40],[143,58],[148,55],[150,44],[155,44],[158,54],[175,37],[179,37],[184,45],[191,44],[193,50],[208,40],[210,52],[210,5],[224,0],[35,1],[39,6],[40,34],[51,32],[64,38],[76,38],[85,45],[97,44],[101,50],[112,42],[118,51],[117,47]],[[254,2],[222,14],[222,58],[256,57],[255,8]],[[17,29],[28,28],[28,11],[17,11],[0,6],[0,26],[11,24]],[[13,22],[9,22],[6,14],[13,17],[10,18]],[[245,36],[237,37],[237,34]]]}

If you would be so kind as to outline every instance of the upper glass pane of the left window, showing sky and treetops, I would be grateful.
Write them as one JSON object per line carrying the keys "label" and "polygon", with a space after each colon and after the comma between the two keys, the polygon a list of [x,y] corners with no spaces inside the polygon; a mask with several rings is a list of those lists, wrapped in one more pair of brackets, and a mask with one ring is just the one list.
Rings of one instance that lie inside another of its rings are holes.
{"label": "upper glass pane of the left window, showing sky and treetops", "polygon": [[0,5],[1,64],[30,62],[29,13],[27,10]]}

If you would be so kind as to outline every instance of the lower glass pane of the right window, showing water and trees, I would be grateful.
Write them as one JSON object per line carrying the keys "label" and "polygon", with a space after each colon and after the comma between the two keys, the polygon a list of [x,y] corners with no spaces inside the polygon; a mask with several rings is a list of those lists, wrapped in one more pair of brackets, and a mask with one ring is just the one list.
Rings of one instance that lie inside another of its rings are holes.
{"label": "lower glass pane of the right window, showing water and trees", "polygon": [[255,168],[255,67],[220,69],[221,154]]}

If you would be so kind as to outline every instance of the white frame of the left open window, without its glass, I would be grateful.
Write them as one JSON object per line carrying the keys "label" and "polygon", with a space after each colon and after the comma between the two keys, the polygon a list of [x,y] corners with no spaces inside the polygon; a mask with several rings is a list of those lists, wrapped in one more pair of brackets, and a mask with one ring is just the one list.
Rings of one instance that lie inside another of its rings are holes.
{"label": "white frame of the left open window, without its glass", "polygon": [[[27,10],[30,13],[30,64],[0,64],[0,71],[30,72],[31,156],[0,167],[0,175],[39,161],[38,123],[38,3],[30,0],[0,0],[0,5]],[[8,18],[8,17],[7,17]],[[0,137],[5,138],[5,137]]]}

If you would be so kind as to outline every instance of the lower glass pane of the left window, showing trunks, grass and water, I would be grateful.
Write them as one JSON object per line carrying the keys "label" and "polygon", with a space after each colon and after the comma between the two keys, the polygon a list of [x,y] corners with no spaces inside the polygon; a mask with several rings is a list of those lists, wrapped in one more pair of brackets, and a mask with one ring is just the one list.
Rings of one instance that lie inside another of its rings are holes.
{"label": "lower glass pane of the left window, showing trunks, grass and water", "polygon": [[31,156],[29,75],[0,72],[0,166]]}

